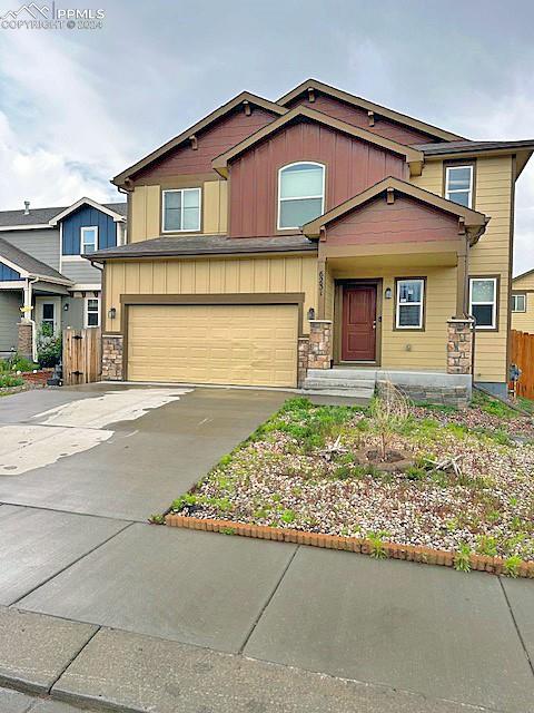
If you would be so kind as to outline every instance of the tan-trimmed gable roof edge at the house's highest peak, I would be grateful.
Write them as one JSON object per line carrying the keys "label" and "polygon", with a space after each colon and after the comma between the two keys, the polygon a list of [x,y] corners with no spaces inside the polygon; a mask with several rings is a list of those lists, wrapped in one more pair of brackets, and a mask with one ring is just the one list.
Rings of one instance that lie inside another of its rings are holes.
{"label": "tan-trimmed gable roof edge at the house's highest peak", "polygon": [[330,87],[330,85],[326,85],[318,79],[306,79],[291,89],[283,97],[277,100],[277,104],[280,106],[286,106],[293,99],[296,99],[304,92],[307,92],[308,89],[316,89],[322,94],[326,94],[335,99],[340,99],[346,104],[350,104],[356,107],[360,107],[362,109],[366,109],[367,111],[374,111],[378,116],[383,116],[392,121],[396,121],[397,124],[403,124],[404,126],[409,126],[411,128],[417,129],[418,131],[423,131],[424,134],[428,134],[429,136],[435,136],[436,138],[441,138],[444,141],[454,141],[457,139],[463,139],[462,136],[457,134],[453,134],[452,131],[446,131],[445,129],[441,129],[437,126],[433,126],[432,124],[426,124],[425,121],[419,121],[419,119],[414,119],[407,114],[400,114],[399,111],[394,111],[393,109],[388,109],[387,107],[383,107],[379,104],[375,104],[374,101],[368,101],[367,99],[363,99],[362,97],[356,97],[353,94],[348,94],[347,91],[343,91],[342,89],[336,89],[335,87]]}

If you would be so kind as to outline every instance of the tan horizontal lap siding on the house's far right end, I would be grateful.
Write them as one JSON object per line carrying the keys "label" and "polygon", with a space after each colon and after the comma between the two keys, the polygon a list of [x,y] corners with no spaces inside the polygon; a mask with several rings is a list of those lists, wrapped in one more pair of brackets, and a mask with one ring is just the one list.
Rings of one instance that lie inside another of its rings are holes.
{"label": "tan horizontal lap siding on the house's far right end", "polygon": [[[510,295],[510,234],[512,219],[513,160],[511,156],[476,160],[474,208],[491,217],[486,232],[469,253],[469,275],[500,279],[498,331],[476,332],[475,381],[507,379],[507,323]],[[443,196],[443,162],[427,162],[423,174],[412,179],[426,191]],[[451,315],[449,315],[451,316]]]}

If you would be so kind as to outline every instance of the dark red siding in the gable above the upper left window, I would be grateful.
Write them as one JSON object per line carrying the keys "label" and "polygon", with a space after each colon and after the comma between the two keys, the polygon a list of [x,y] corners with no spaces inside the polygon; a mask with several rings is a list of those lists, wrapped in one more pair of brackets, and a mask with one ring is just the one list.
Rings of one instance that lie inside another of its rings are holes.
{"label": "dark red siding in the gable above the upper left window", "polygon": [[211,160],[216,156],[239,144],[275,118],[274,114],[259,107],[253,107],[250,116],[238,109],[198,134],[196,150],[187,141],[140,170],[134,179],[145,183],[168,176],[211,173]]}

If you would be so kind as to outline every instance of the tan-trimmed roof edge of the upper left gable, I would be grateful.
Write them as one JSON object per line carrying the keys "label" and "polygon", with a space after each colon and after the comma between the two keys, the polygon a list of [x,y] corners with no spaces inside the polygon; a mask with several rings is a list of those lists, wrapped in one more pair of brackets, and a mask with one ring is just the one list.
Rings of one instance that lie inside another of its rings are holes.
{"label": "tan-trimmed roof edge of the upper left gable", "polygon": [[250,91],[241,91],[236,97],[234,97],[234,99],[230,99],[218,109],[215,109],[215,111],[208,114],[208,116],[204,117],[204,119],[200,119],[200,121],[197,121],[181,134],[178,134],[178,136],[175,136],[175,138],[171,138],[169,141],[151,152],[150,154],[148,154],[148,156],[145,156],[145,158],[141,158],[126,170],[122,170],[111,179],[111,183],[113,183],[116,186],[125,185],[127,179],[130,178],[134,174],[141,170],[141,168],[146,168],[158,158],[161,158],[161,156],[165,156],[165,154],[167,154],[168,152],[188,140],[192,135],[207,128],[221,117],[233,111],[236,107],[245,102],[253,104],[257,107],[260,107],[261,109],[267,109],[267,111],[273,111],[273,114],[276,114],[278,116],[286,114],[287,111],[287,109],[285,107],[281,107],[279,104],[269,101],[268,99],[264,99],[263,97],[258,97]]}

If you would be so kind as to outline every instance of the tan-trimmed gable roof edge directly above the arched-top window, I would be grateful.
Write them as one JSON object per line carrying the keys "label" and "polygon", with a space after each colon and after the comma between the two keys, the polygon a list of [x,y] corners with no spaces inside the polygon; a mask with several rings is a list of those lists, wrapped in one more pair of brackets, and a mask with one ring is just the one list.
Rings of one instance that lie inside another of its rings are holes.
{"label": "tan-trimmed gable roof edge directly above the arched-top window", "polygon": [[380,146],[389,152],[395,154],[399,154],[406,158],[406,163],[409,164],[412,175],[419,175],[423,166],[424,155],[416,148],[412,146],[405,146],[404,144],[398,144],[389,138],[384,138],[383,136],[378,136],[377,134],[372,134],[370,131],[366,131],[357,126],[353,126],[352,124],[347,124],[346,121],[342,121],[340,119],[336,119],[327,114],[323,114],[323,111],[317,111],[316,109],[310,109],[309,107],[298,106],[294,109],[290,109],[284,116],[278,117],[264,128],[259,129],[251,136],[248,136],[243,141],[233,146],[230,149],[220,154],[211,162],[211,166],[214,169],[219,173],[221,176],[228,176],[228,163],[236,158],[239,154],[248,150],[255,144],[263,141],[265,138],[279,130],[290,121],[295,121],[296,119],[308,119],[312,121],[316,121],[317,124],[322,124],[324,126],[328,126],[337,131],[342,131],[343,134],[347,134],[348,136],[353,136],[355,138],[359,138],[369,144],[374,144],[375,146]]}

